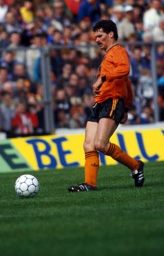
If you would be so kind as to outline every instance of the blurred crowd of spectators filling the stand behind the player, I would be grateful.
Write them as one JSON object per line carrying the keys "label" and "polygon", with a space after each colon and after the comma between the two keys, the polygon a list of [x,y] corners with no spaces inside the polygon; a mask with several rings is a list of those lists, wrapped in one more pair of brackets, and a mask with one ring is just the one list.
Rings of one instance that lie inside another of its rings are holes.
{"label": "blurred crowd of spectators filling the stand behind the player", "polygon": [[99,19],[117,23],[118,43],[130,56],[134,100],[128,125],[154,122],[149,43],[158,42],[156,86],[159,116],[164,120],[164,1],[0,0],[0,131],[8,136],[44,133],[41,52],[45,47],[49,47],[54,125],[85,127],[94,104],[92,84],[104,55],[92,31]]}

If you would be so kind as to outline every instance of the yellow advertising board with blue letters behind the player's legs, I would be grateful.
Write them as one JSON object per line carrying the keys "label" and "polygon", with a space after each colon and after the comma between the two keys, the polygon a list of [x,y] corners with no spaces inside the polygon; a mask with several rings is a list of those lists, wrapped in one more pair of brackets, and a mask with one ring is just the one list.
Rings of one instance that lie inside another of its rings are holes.
{"label": "yellow advertising board with blue letters behind the player's legs", "polygon": [[[164,129],[117,131],[111,142],[119,145],[132,158],[143,162],[164,160]],[[0,142],[1,170],[44,170],[83,167],[84,134],[13,138]],[[100,164],[117,164],[99,153]]]}

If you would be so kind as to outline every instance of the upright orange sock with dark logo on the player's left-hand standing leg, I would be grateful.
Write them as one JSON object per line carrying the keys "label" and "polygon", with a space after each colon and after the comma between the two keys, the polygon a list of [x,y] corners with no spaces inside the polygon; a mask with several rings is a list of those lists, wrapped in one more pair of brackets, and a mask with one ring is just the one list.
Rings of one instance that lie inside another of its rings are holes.
{"label": "upright orange sock with dark logo on the player's left-hand standing leg", "polygon": [[99,153],[95,150],[85,152],[85,183],[96,186],[99,170]]}

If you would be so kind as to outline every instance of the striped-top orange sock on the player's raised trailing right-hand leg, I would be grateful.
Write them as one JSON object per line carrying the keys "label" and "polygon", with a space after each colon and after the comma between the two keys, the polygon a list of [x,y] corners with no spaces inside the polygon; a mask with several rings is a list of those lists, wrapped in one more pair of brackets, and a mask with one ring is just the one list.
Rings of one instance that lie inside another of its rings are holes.
{"label": "striped-top orange sock on the player's raised trailing right-hand leg", "polygon": [[106,155],[111,156],[113,159],[117,160],[117,162],[126,165],[126,167],[131,171],[135,171],[139,168],[139,162],[136,159],[131,158],[125,151],[120,149],[120,147],[114,143],[108,144]]}

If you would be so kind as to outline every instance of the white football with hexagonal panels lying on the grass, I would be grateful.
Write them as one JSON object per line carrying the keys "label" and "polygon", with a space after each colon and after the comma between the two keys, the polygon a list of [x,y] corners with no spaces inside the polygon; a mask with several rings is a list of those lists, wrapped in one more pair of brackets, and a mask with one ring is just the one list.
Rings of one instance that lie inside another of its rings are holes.
{"label": "white football with hexagonal panels lying on the grass", "polygon": [[20,198],[34,198],[39,191],[39,183],[31,174],[24,174],[17,178],[15,191]]}

